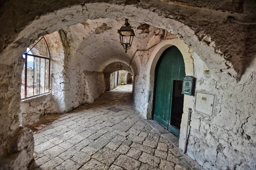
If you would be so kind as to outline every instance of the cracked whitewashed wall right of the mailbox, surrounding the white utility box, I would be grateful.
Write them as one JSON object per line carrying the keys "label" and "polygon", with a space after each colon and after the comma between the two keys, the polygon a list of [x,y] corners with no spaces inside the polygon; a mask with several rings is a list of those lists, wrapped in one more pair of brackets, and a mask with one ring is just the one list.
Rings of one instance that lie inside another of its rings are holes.
{"label": "cracked whitewashed wall right of the mailbox, surrounding the white utility box", "polygon": [[192,105],[187,154],[205,169],[256,169],[256,68],[247,68],[238,82],[225,74],[215,79],[200,57],[194,52],[192,56],[195,90],[215,94],[216,106],[211,117],[197,113]]}

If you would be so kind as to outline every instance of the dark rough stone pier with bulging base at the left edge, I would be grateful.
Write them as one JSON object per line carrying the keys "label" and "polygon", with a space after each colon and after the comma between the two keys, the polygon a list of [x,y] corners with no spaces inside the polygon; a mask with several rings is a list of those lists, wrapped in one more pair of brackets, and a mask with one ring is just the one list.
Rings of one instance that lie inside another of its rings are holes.
{"label": "dark rough stone pier with bulging base at the left edge", "polygon": [[[21,126],[20,86],[24,60],[0,64],[0,169],[23,170],[34,159],[33,132]],[[9,73],[9,74],[6,74]]]}

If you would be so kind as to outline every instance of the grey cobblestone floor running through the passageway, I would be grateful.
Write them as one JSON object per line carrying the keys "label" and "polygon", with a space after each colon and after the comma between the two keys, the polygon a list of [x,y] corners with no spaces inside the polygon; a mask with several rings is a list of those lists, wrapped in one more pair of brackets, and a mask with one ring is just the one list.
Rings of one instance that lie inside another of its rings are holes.
{"label": "grey cobblestone floor running through the passageway", "polygon": [[132,85],[59,115],[35,133],[38,170],[189,170],[132,102]]}

